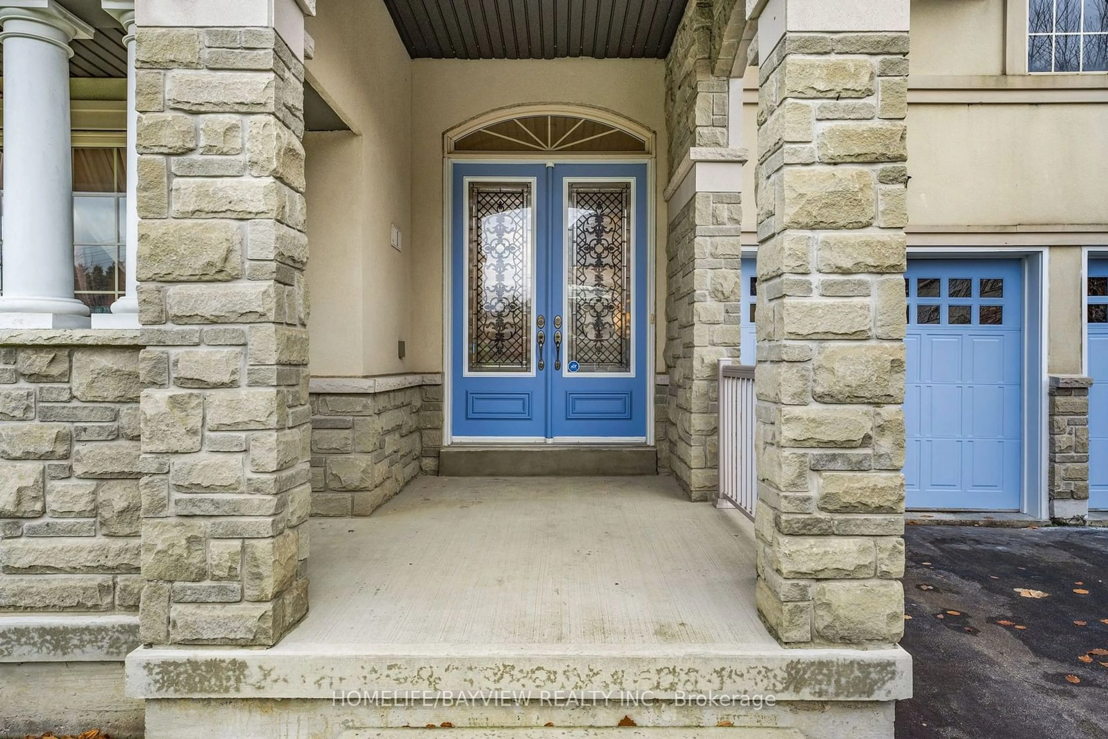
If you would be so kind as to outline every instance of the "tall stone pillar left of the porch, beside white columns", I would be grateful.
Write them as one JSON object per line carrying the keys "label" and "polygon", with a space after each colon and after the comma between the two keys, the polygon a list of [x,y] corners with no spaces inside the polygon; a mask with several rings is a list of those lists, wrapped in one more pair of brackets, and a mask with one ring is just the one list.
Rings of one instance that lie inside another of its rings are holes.
{"label": "tall stone pillar left of the porch, beside white columns", "polygon": [[273,645],[308,608],[298,53],[140,13],[145,643]]}

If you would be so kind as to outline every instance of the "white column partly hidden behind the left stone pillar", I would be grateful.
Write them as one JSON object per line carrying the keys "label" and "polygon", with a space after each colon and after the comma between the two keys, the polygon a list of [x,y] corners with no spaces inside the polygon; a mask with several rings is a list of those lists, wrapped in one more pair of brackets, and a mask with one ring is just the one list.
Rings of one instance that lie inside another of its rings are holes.
{"label": "white column partly hidden behind the left stone pillar", "polygon": [[127,209],[126,209],[126,292],[112,304],[111,314],[92,317],[93,328],[138,328],[138,150],[135,131],[135,3],[134,0],[101,0],[101,7],[120,22],[127,48]]}

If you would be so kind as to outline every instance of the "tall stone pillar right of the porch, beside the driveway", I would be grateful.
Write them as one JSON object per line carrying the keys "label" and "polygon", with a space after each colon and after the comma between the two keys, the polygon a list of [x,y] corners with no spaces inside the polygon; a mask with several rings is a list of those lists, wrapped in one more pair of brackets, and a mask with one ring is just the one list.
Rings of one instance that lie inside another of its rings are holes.
{"label": "tall stone pillar right of the porch, beside the driveway", "polygon": [[847,4],[759,21],[757,602],[796,646],[903,633],[909,3]]}

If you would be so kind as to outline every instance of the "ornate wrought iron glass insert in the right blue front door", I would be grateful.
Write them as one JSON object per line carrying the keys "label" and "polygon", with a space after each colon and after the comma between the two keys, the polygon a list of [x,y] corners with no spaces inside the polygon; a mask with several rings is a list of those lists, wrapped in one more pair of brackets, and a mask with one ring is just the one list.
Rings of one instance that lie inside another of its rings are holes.
{"label": "ornate wrought iron glass insert in the right blue front door", "polygon": [[566,360],[581,372],[630,371],[630,183],[571,183]]}

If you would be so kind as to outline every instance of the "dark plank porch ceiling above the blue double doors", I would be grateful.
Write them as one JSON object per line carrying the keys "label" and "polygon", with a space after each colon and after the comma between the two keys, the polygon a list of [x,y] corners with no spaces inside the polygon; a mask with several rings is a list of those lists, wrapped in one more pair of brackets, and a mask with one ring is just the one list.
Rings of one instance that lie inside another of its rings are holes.
{"label": "dark plank porch ceiling above the blue double doors", "polygon": [[657,58],[687,0],[384,0],[412,59]]}

